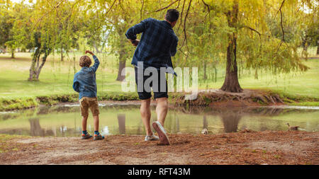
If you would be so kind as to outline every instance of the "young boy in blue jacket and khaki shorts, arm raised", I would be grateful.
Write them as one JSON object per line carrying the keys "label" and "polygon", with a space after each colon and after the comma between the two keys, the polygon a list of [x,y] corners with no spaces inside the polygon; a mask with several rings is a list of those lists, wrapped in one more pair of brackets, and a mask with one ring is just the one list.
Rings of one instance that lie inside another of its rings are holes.
{"label": "young boy in blue jacket and khaki shorts, arm raised", "polygon": [[90,57],[84,55],[79,60],[79,66],[82,69],[74,75],[73,89],[79,93],[79,103],[82,114],[82,139],[90,139],[92,136],[86,132],[86,122],[89,116],[89,108],[94,118],[94,140],[101,140],[104,137],[99,133],[99,104],[96,98],[96,75],[95,72],[99,67],[99,59],[93,52],[86,50],[93,56],[94,65],[91,65]]}

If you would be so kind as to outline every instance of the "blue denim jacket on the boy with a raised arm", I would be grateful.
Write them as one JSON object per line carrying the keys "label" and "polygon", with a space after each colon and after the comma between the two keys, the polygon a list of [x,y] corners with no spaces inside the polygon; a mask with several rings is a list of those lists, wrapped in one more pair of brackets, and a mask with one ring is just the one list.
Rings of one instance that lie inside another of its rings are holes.
{"label": "blue denim jacket on the boy with a raised arm", "polygon": [[79,100],[82,97],[96,97],[96,76],[95,72],[99,67],[99,59],[93,55],[94,65],[92,67],[82,67],[74,74],[73,89],[79,93]]}

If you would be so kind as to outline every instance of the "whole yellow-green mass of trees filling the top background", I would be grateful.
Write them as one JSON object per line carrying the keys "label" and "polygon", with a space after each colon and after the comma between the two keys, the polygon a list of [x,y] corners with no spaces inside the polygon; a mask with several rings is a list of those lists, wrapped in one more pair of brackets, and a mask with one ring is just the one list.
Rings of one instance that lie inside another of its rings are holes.
{"label": "whole yellow-green mass of trees filling the top background", "polygon": [[[125,31],[145,18],[163,20],[169,8],[180,12],[174,27],[179,37],[174,67],[199,67],[207,79],[208,69],[225,64],[225,91],[241,91],[238,67],[256,71],[256,78],[258,69],[274,74],[305,71],[301,57],[307,54],[299,54],[297,48],[318,42],[315,0],[25,2],[0,1],[0,47],[34,51],[29,79],[38,79],[48,54],[61,52],[63,60],[64,52],[79,50],[80,41],[86,40],[96,52],[109,50],[118,57],[117,80],[122,81],[121,70],[134,52]],[[31,71],[38,72],[33,76]]]}

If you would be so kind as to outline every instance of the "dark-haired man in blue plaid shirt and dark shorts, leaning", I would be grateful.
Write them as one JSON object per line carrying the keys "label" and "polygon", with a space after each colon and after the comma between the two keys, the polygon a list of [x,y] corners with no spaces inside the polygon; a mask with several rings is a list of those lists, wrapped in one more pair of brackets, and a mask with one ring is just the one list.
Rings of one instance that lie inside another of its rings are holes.
{"label": "dark-haired man in blue plaid shirt and dark shorts, leaning", "polygon": [[[172,29],[179,18],[179,11],[169,9],[164,21],[147,18],[129,28],[126,37],[134,46],[137,46],[132,64],[135,66],[135,82],[138,85],[138,96],[141,100],[140,115],[145,125],[145,141],[160,140],[161,144],[169,145],[169,138],[164,130],[164,120],[167,115],[167,80],[166,71],[161,68],[172,69],[172,59],[177,52],[178,38]],[[140,40],[136,35],[142,33]],[[159,75],[158,75],[159,74]],[[154,78],[155,77],[155,78]],[[146,83],[151,82],[149,85]],[[157,121],[152,126],[159,137],[155,136],[150,128],[150,87],[157,101]]]}

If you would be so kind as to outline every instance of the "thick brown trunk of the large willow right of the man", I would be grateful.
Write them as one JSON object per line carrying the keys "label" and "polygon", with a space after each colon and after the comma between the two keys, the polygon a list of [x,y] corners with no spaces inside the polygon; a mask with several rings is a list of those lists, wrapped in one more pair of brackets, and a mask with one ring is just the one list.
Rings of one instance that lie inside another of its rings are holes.
{"label": "thick brown trunk of the large willow right of the man", "polygon": [[[231,28],[236,28],[238,16],[238,1],[234,2],[233,11],[228,11],[228,25]],[[238,81],[238,69],[236,61],[236,47],[237,47],[237,32],[230,33],[228,35],[228,47],[227,47],[227,62],[226,62],[226,76],[223,86],[220,88],[223,91],[241,93],[242,88]]]}

